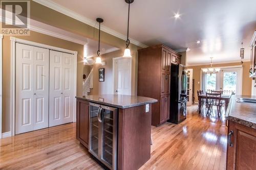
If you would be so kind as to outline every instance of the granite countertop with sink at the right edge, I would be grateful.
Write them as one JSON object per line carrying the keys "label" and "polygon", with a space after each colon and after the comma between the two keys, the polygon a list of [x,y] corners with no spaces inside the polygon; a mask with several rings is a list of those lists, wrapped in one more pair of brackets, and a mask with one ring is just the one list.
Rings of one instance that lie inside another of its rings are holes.
{"label": "granite countertop with sink at the right edge", "polygon": [[256,129],[256,104],[237,102],[239,98],[256,100],[256,96],[233,95],[226,112],[227,119]]}

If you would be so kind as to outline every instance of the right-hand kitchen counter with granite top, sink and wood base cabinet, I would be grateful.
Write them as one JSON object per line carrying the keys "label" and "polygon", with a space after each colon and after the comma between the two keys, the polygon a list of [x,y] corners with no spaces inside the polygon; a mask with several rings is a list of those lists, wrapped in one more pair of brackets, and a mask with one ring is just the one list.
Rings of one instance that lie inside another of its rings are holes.
{"label": "right-hand kitchen counter with granite top, sink and wood base cabinet", "polygon": [[226,112],[226,169],[255,169],[256,96],[232,96]]}

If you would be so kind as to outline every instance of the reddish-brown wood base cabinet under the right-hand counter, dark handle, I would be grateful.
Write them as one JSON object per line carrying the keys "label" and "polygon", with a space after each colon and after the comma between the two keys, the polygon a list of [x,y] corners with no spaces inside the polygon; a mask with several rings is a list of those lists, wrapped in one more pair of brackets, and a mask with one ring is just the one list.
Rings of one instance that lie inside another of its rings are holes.
{"label": "reddish-brown wood base cabinet under the right-hand counter, dark handle", "polygon": [[254,169],[256,129],[229,121],[226,169]]}

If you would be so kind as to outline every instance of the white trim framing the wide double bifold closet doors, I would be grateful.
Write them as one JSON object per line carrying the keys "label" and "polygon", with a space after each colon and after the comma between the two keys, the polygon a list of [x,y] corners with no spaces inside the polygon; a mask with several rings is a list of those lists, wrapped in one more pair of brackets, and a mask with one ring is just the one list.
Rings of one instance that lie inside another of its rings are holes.
{"label": "white trim framing the wide double bifold closet doors", "polygon": [[[11,136],[15,134],[15,53],[16,53],[16,42],[23,43],[27,45],[33,45],[41,48],[48,48],[49,50],[55,50],[63,53],[74,54],[74,98],[76,96],[76,74],[77,74],[77,51],[71,51],[64,48],[59,48],[51,45],[41,44],[33,41],[23,40],[15,37],[10,37],[11,41],[11,97],[10,97],[10,132]],[[2,54],[2,53],[1,53]],[[74,100],[74,122],[76,121],[76,100]]]}

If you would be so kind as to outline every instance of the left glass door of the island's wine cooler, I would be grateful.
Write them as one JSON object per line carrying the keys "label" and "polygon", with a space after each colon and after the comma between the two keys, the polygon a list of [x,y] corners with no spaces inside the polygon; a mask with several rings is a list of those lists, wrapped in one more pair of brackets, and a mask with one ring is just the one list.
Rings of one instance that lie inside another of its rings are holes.
{"label": "left glass door of the island's wine cooler", "polygon": [[89,151],[95,157],[99,156],[99,139],[100,139],[100,122],[99,113],[102,109],[97,105],[90,105],[90,141],[89,141]]}

